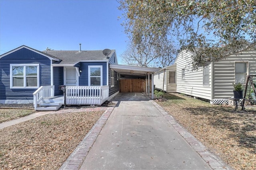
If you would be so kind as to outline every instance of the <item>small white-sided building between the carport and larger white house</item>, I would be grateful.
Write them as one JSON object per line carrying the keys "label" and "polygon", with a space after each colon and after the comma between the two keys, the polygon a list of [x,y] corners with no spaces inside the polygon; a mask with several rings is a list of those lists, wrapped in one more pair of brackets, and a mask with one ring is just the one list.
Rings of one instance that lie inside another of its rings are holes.
{"label": "small white-sided building between the carport and larger white house", "polygon": [[155,89],[176,92],[176,64],[166,66],[154,74]]}

